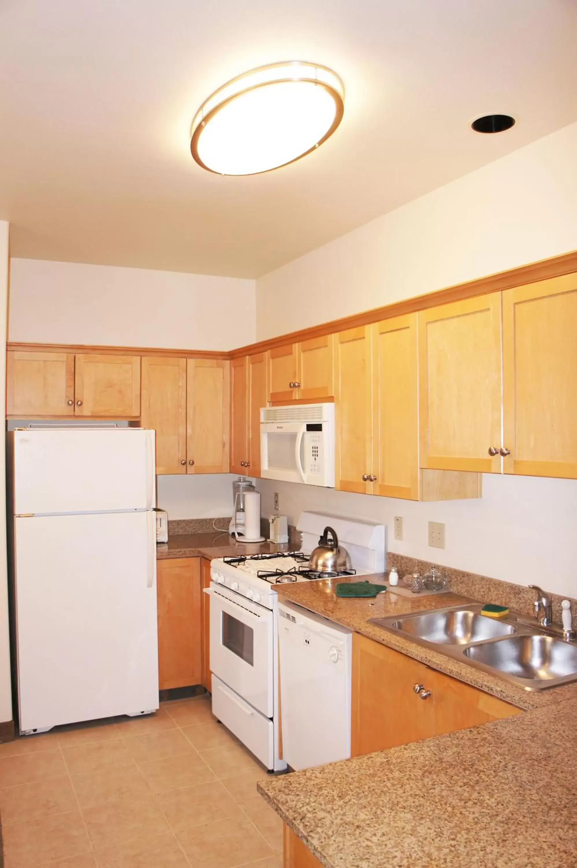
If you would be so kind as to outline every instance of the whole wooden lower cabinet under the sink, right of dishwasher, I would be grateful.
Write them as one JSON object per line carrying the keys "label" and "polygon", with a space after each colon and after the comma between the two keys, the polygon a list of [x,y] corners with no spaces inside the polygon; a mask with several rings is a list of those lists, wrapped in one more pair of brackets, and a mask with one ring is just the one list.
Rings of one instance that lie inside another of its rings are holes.
{"label": "whole wooden lower cabinet under the sink, right of dishwasher", "polygon": [[[422,685],[430,695],[414,691]],[[352,637],[351,755],[406,745],[521,713],[476,687],[367,639]]]}

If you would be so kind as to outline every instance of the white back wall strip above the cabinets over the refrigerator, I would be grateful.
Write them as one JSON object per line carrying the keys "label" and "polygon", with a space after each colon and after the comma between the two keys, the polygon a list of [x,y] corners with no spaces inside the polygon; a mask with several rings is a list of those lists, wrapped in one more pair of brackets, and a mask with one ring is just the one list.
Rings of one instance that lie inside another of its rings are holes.
{"label": "white back wall strip above the cabinets over the refrigerator", "polygon": [[12,259],[9,339],[230,350],[255,339],[254,281]]}

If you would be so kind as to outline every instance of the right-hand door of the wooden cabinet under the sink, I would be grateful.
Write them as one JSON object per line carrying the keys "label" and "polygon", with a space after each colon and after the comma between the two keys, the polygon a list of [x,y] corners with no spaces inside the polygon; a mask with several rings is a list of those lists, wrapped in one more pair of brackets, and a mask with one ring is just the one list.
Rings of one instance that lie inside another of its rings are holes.
{"label": "right-hand door of the wooden cabinet under the sink", "polygon": [[456,729],[478,727],[490,720],[502,720],[521,714],[519,708],[496,696],[483,693],[470,684],[456,681],[442,672],[429,670],[423,686],[430,691],[429,700],[435,707],[435,733],[454,733]]}

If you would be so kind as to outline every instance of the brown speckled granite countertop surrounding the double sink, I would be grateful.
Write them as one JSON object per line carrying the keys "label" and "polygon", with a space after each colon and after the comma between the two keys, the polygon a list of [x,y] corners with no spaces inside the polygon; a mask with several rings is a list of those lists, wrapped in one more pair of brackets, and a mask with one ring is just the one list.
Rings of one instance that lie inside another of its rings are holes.
{"label": "brown speckled granite countertop surrounding the double sink", "polygon": [[[356,633],[380,642],[388,648],[400,651],[437,669],[446,675],[451,675],[458,681],[464,681],[472,687],[478,687],[485,693],[493,694],[498,699],[510,702],[518,708],[528,711],[555,705],[568,699],[577,700],[577,681],[549,690],[529,692],[508,681],[502,681],[495,675],[483,672],[461,663],[434,648],[424,648],[416,645],[403,635],[389,633],[370,623],[370,618],[388,618],[390,615],[407,615],[410,612],[420,612],[446,606],[459,606],[462,603],[473,602],[470,597],[460,596],[449,591],[447,594],[429,596],[402,596],[390,589],[374,598],[338,597],[335,588],[338,582],[357,582],[362,576],[355,575],[348,579],[325,579],[318,582],[294,582],[288,585],[277,585],[279,600],[293,602],[297,606],[309,609],[317,615],[335,621],[343,627],[348,627]],[[370,575],[370,581],[380,584],[384,582],[385,574]],[[477,601],[475,601],[477,602]]]}

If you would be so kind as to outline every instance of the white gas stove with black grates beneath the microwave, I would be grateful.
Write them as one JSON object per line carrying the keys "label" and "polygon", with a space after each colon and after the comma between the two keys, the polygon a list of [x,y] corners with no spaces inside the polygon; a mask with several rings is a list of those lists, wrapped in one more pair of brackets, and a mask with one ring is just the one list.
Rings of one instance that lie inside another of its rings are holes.
{"label": "white gas stove with black grates beneath the microwave", "polygon": [[[337,531],[352,568],[319,573],[310,552],[325,526]],[[384,525],[304,512],[303,551],[216,558],[211,564],[210,668],[213,713],[271,771],[279,757],[278,596],[275,586],[384,570]]]}

